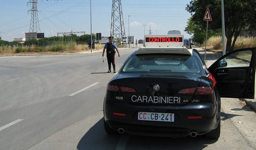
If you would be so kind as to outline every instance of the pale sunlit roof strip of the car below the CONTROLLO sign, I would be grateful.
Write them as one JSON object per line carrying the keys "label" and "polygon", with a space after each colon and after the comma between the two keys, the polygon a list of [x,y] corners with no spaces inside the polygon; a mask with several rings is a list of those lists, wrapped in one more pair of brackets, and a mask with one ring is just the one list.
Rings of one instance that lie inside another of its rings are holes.
{"label": "pale sunlit roof strip of the car below the CONTROLLO sign", "polygon": [[140,47],[135,55],[141,54],[185,54],[192,55],[186,47]]}

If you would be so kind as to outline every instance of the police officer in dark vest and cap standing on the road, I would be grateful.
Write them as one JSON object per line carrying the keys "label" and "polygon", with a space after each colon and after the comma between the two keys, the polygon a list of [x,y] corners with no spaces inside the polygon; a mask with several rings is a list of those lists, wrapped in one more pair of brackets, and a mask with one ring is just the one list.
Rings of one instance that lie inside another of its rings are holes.
{"label": "police officer in dark vest and cap standing on the road", "polygon": [[106,51],[107,52],[107,60],[108,60],[108,72],[107,73],[111,72],[111,63],[113,65],[113,70],[115,73],[115,49],[118,52],[118,57],[120,57],[120,53],[117,49],[117,45],[113,42],[113,40],[114,40],[113,36],[108,37],[108,43],[105,44],[104,49],[103,49],[103,54],[102,54],[102,56],[104,56],[105,49],[107,48],[107,51]]}

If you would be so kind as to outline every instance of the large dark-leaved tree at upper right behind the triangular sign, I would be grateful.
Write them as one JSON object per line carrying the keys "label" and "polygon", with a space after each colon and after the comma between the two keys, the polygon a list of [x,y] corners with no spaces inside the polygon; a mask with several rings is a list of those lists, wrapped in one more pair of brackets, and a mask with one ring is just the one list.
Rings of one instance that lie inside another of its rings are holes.
{"label": "large dark-leaved tree at upper right behind the triangular sign", "polygon": [[[186,10],[191,13],[191,19],[196,25],[206,28],[206,21],[203,21],[203,17],[207,8],[212,17],[208,29],[221,29],[221,0],[191,0],[190,4],[187,4]],[[255,0],[224,0],[226,51],[234,49],[235,41],[241,30],[255,29],[255,8]]]}

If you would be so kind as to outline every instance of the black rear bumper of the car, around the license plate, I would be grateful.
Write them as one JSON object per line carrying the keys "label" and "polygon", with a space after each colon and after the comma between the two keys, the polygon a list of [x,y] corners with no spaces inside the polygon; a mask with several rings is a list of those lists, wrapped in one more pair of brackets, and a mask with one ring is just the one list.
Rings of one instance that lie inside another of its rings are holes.
{"label": "black rear bumper of the car, around the license plate", "polygon": [[[138,112],[174,113],[174,122],[138,120]],[[125,114],[125,116],[113,113]],[[212,103],[194,103],[186,106],[135,106],[128,103],[104,102],[104,119],[118,131],[135,135],[184,137],[196,132],[203,135],[217,128],[219,114]],[[188,116],[202,116],[188,119]]]}

